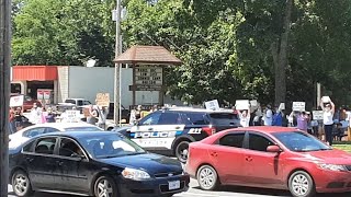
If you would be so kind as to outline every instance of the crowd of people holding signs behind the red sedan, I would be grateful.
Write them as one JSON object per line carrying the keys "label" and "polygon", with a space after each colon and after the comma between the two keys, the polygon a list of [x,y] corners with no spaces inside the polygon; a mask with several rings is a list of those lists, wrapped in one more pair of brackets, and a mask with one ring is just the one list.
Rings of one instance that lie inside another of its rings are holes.
{"label": "crowd of people holding signs behind the red sedan", "polygon": [[264,107],[259,106],[252,112],[250,109],[237,111],[235,107],[233,109],[234,113],[238,115],[242,127],[296,127],[299,130],[304,130],[325,140],[330,146],[335,138],[336,140],[342,140],[347,127],[346,124],[349,124],[346,108],[340,107],[336,111],[336,105],[332,101],[328,103],[320,102],[318,109],[322,111],[321,119],[314,119],[313,113],[305,111],[292,111],[287,115],[285,114],[285,109],[281,109],[278,106],[272,108],[271,105]]}

